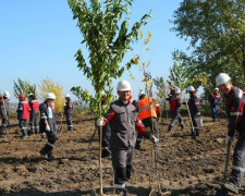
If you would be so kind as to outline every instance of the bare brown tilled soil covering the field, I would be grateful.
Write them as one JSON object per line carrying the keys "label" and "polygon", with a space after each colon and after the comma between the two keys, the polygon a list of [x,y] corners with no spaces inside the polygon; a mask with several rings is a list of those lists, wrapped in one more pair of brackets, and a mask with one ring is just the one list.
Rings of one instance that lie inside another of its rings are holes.
{"label": "bare brown tilled soil covering the field", "polygon": [[[0,138],[0,195],[97,195],[98,134],[88,147],[95,128],[93,119],[91,115],[75,115],[75,131],[68,133],[63,123],[63,130],[58,134],[59,140],[53,150],[56,159],[49,161],[39,156],[38,151],[46,144],[40,142],[40,135],[21,139],[17,121],[11,118],[9,134]],[[189,127],[188,119],[184,118],[184,121]],[[174,133],[167,133],[169,122],[170,119],[159,123],[161,135],[157,167],[162,192],[169,191],[174,196],[215,195],[220,187],[224,168],[223,138],[226,133],[226,120],[211,122],[211,118],[204,118],[205,126],[197,140],[191,138],[189,128],[181,131],[177,125],[174,126]],[[235,142],[236,139],[233,144]],[[102,163],[105,193],[111,193],[113,189],[111,160],[103,159]],[[143,140],[143,150],[135,151],[134,171],[128,183],[130,195],[149,195],[150,176],[155,182],[151,186],[157,187],[156,174],[150,175],[150,171],[151,144]],[[245,195],[244,189],[240,193]]]}

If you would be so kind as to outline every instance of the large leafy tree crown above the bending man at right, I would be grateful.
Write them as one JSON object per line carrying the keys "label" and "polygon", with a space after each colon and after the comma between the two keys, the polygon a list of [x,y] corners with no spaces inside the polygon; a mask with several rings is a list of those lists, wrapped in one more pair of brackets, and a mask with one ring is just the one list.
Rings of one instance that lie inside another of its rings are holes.
{"label": "large leafy tree crown above the bending man at right", "polygon": [[215,77],[228,73],[237,86],[245,84],[245,1],[184,0],[174,12],[173,30],[191,40],[193,52],[185,65]]}

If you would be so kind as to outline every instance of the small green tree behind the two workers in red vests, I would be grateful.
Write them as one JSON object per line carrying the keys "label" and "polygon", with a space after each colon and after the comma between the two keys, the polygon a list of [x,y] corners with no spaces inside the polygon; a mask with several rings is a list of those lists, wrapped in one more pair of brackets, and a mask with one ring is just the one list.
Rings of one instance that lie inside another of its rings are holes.
{"label": "small green tree behind the two workers in red vests", "polygon": [[26,79],[17,78],[17,81],[14,82],[14,97],[19,98],[21,94],[25,95],[27,97],[30,93],[37,96],[36,85],[30,84]]}

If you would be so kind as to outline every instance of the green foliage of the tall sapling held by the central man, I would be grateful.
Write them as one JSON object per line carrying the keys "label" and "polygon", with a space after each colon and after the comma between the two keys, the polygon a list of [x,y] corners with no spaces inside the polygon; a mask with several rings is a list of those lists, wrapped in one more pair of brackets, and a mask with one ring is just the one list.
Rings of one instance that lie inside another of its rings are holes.
{"label": "green foliage of the tall sapling held by the central man", "polygon": [[128,5],[133,0],[107,0],[105,3],[99,0],[90,0],[89,3],[85,0],[68,0],[68,3],[83,35],[82,44],[85,44],[89,51],[88,64],[82,49],[77,50],[77,68],[91,81],[96,91],[95,107],[99,108],[97,117],[100,118],[101,91],[105,86],[111,85],[112,79],[120,77],[125,68],[131,68],[133,60],[125,66],[120,66],[120,63],[130,44],[138,39],[138,29],[147,24],[150,15],[145,14],[130,30],[130,19],[122,16],[130,12]]}

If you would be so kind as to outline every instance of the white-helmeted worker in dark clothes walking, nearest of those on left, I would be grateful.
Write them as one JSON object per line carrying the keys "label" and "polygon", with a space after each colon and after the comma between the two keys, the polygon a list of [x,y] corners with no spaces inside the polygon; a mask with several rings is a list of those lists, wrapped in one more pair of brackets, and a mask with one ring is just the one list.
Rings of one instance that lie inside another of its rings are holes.
{"label": "white-helmeted worker in dark clothes walking, nearest of those on left", "polygon": [[52,155],[53,146],[57,142],[57,121],[56,121],[56,110],[53,106],[53,100],[56,99],[54,94],[48,93],[46,95],[46,100],[40,108],[40,130],[46,132],[48,137],[48,143],[39,151],[42,157],[48,155],[48,159],[53,159]]}

